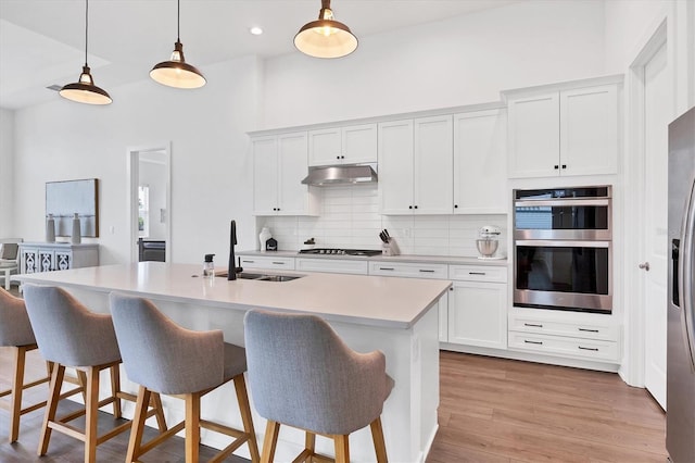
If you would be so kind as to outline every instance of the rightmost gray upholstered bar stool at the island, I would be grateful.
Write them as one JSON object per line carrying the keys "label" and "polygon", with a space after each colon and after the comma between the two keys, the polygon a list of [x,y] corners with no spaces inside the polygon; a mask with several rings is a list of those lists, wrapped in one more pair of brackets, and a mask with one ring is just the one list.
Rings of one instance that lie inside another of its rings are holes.
{"label": "rightmost gray upholstered bar stool at the island", "polygon": [[315,453],[316,435],[333,439],[336,462],[350,462],[349,435],[371,427],[375,452],[386,463],[381,410],[393,387],[382,352],[357,353],[315,315],[250,311],[244,317],[249,384],[267,422],[261,461],[271,462],[280,424],[306,431],[294,461]]}

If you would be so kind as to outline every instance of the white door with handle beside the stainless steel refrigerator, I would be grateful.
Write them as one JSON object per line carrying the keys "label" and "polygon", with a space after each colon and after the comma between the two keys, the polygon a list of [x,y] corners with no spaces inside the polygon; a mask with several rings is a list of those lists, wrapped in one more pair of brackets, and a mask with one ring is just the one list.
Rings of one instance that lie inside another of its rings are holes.
{"label": "white door with handle beside the stainless steel refrigerator", "polygon": [[633,103],[637,109],[635,177],[639,243],[632,272],[639,297],[635,308],[643,314],[644,386],[666,410],[667,265],[668,265],[668,124],[672,120],[673,89],[670,85],[666,22],[656,30],[631,66],[635,77]]}

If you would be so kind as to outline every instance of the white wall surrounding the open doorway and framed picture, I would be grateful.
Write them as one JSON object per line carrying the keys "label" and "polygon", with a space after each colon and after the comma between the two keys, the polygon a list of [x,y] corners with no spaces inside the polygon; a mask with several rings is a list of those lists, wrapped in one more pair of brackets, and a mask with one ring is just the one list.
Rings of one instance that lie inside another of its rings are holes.
{"label": "white wall surrounding the open doorway and framed picture", "polygon": [[[108,89],[110,107],[63,100],[16,113],[16,232],[43,239],[45,183],[97,177],[102,264],[129,262],[127,147],[172,141],[172,251],[177,262],[228,252],[229,220],[255,243],[245,132],[257,118],[255,58],[210,66],[208,84],[181,91],[151,80]],[[135,243],[132,243],[135,246]],[[219,259],[219,258],[218,258]]]}

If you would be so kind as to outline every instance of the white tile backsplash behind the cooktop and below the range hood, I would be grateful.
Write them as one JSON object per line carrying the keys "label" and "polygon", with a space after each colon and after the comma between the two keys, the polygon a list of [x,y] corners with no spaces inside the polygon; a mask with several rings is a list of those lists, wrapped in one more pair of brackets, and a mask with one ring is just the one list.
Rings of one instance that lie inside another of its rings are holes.
{"label": "white tile backsplash behind the cooktop and below the range hood", "polygon": [[320,215],[256,217],[256,234],[266,226],[280,250],[298,251],[308,238],[317,248],[380,249],[379,232],[389,230],[402,254],[477,256],[483,225],[502,229],[496,255],[507,255],[507,216],[381,215],[376,185],[319,189]]}

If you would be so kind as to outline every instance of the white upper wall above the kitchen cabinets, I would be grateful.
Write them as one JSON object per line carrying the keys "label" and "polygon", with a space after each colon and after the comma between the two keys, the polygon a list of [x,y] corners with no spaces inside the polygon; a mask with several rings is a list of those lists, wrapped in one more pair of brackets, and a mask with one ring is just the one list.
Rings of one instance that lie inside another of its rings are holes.
{"label": "white upper wall above the kitchen cabinets", "polygon": [[266,63],[264,126],[500,100],[500,90],[604,74],[601,1],[523,1],[361,37],[341,60]]}

